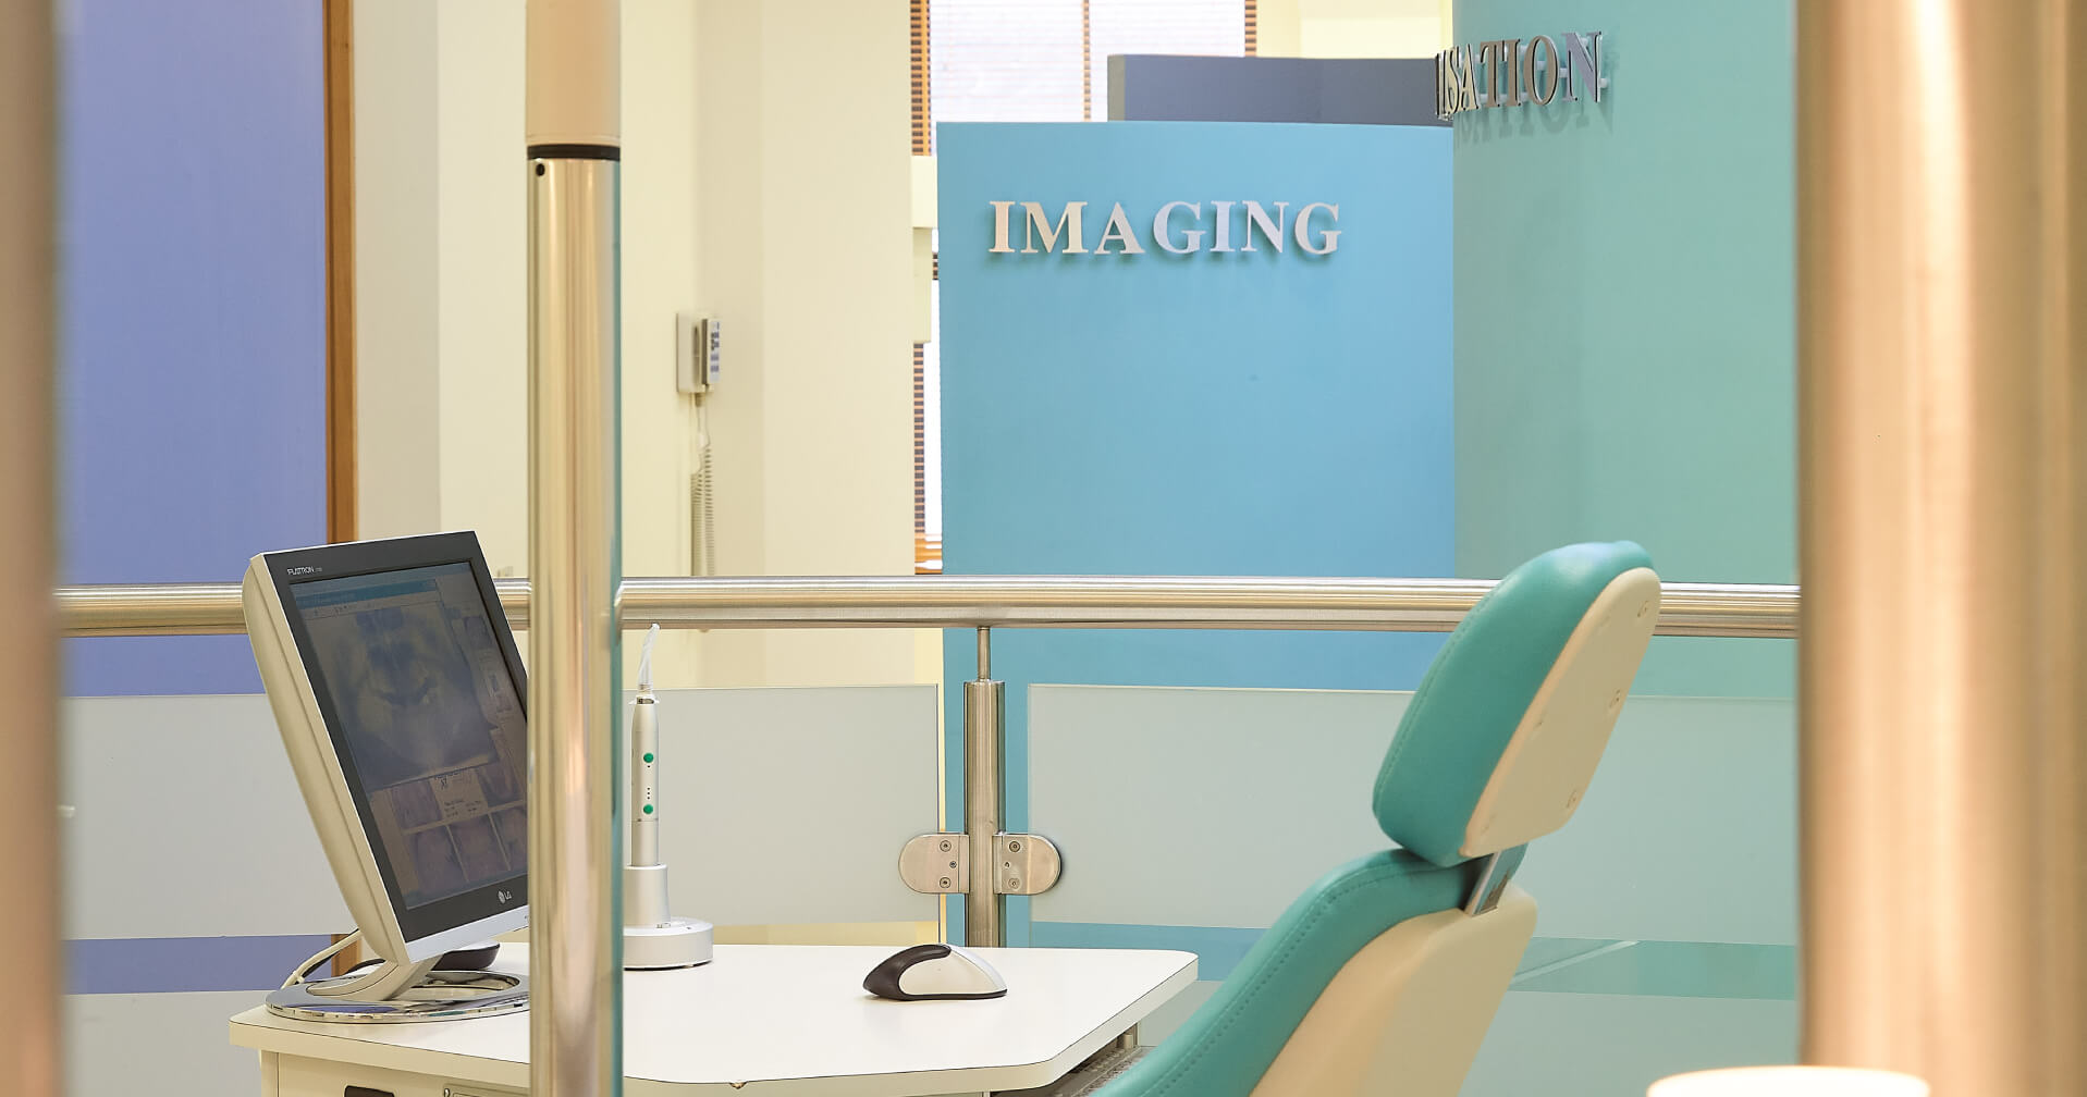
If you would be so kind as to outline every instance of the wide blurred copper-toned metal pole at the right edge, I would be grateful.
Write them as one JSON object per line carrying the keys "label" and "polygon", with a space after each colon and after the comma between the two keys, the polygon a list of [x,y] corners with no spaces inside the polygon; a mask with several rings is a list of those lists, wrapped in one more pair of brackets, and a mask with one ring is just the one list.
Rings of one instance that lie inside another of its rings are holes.
{"label": "wide blurred copper-toned metal pole at the right edge", "polygon": [[1797,29],[1803,1057],[2087,1093],[2087,10]]}

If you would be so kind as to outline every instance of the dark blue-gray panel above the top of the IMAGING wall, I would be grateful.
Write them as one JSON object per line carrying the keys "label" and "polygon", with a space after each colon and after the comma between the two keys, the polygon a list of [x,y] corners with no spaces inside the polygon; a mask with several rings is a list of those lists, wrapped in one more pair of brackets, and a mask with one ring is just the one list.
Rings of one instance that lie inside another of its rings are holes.
{"label": "dark blue-gray panel above the top of the IMAGING wall", "polygon": [[1436,119],[1434,58],[1108,58],[1110,121],[1317,121],[1448,125]]}

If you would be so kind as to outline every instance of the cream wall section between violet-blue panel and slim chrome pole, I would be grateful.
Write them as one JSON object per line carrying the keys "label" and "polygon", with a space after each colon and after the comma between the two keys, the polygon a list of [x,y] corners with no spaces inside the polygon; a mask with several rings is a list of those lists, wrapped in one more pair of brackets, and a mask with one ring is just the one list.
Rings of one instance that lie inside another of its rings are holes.
{"label": "cream wall section between violet-blue panel and slim chrome pole", "polygon": [[357,534],[528,569],[518,0],[355,4]]}

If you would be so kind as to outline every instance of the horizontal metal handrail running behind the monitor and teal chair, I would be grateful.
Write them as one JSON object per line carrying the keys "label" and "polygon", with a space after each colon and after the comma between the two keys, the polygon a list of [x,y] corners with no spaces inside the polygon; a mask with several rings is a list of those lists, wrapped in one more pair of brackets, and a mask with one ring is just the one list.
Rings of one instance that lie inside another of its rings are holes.
{"label": "horizontal metal handrail running behind the monitor and teal chair", "polygon": [[[495,580],[528,628],[528,580]],[[624,580],[624,628],[1248,628],[1448,632],[1492,580],[854,576]],[[246,632],[238,584],[61,586],[67,636]],[[1670,582],[1663,636],[1797,636],[1797,588]]]}

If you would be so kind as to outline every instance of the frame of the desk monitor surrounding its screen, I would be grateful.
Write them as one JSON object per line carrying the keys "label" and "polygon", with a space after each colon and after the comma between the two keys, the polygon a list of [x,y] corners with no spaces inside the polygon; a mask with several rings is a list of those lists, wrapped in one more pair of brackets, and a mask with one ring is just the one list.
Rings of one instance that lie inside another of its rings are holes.
{"label": "frame of the desk monitor surrounding its screen", "polygon": [[[455,563],[470,565],[472,580],[478,584],[478,596],[486,607],[486,621],[493,626],[501,659],[507,663],[507,674],[513,680],[515,703],[522,707],[524,720],[528,720],[528,672],[522,665],[522,653],[513,642],[513,630],[507,624],[507,611],[501,605],[499,588],[493,586],[493,574],[478,546],[478,534],[453,532],[321,544],[313,548],[263,553],[261,559],[265,561],[267,580],[273,586],[275,603],[282,613],[282,628],[286,630],[284,638],[296,653],[305,684],[311,692],[309,699],[313,711],[319,715],[328,742],[332,745],[332,761],[338,765],[340,780],[338,790],[342,793],[342,799],[353,805],[355,818],[361,824],[367,855],[371,857],[382,880],[384,893],[380,899],[390,911],[407,949],[419,951],[413,949],[419,941],[449,934],[457,928],[490,918],[526,911],[528,866],[511,876],[490,880],[445,899],[434,899],[417,907],[405,905],[397,872],[392,870],[390,851],[378,840],[376,815],[371,813],[367,790],[355,770],[355,755],[342,736],[340,711],[328,692],[323,667],[317,663],[317,651],[313,649],[311,634],[296,609],[294,594],[294,588],[307,582],[344,580],[382,571],[407,571],[415,567],[440,567]],[[524,765],[522,784],[526,805],[528,765]]]}

